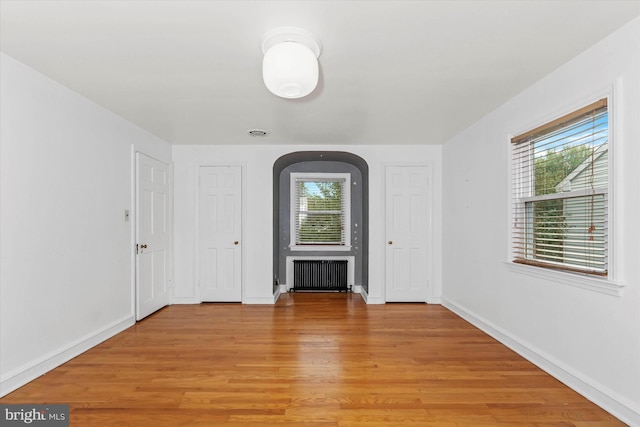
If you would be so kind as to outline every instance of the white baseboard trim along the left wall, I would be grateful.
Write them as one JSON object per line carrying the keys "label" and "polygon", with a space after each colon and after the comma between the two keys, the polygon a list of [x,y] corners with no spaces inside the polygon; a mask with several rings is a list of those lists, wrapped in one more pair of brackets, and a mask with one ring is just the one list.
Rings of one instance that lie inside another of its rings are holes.
{"label": "white baseboard trim along the left wall", "polygon": [[17,390],[23,385],[35,380],[41,375],[46,374],[50,370],[57,368],[63,363],[68,362],[90,348],[95,347],[101,342],[119,334],[135,324],[135,322],[136,319],[134,315],[127,315],[119,320],[111,322],[94,333],[85,335],[64,347],[54,350],[39,359],[26,363],[23,366],[4,374],[2,378],[0,378],[0,397]]}

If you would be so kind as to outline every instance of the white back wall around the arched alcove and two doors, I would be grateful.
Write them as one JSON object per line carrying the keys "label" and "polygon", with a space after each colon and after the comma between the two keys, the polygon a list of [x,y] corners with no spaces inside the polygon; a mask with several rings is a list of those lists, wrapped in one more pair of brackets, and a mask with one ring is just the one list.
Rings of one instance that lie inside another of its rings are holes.
{"label": "white back wall around the arched alcove and two doors", "polygon": [[432,300],[441,294],[441,147],[439,146],[174,146],[174,303],[199,302],[195,275],[196,178],[201,165],[242,165],[244,170],[243,302],[272,304],[273,164],[295,151],[339,150],[369,165],[370,303],[384,302],[384,167],[427,164],[433,176],[434,236]]}

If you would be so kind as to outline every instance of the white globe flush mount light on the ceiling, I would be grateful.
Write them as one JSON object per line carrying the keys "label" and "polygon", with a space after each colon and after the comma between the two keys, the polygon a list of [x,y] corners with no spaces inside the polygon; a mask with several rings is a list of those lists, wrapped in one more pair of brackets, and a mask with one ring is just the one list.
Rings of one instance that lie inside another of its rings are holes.
{"label": "white globe flush mount light on the ceiling", "polygon": [[262,43],[262,78],[273,94],[281,98],[302,98],[318,84],[320,41],[295,27],[276,28]]}

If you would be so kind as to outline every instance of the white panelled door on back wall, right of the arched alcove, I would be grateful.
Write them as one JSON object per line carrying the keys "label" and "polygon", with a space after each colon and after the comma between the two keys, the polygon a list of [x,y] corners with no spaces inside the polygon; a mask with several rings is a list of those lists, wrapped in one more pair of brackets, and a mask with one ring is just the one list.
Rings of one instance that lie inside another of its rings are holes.
{"label": "white panelled door on back wall, right of the arched alcove", "polygon": [[390,166],[385,178],[386,300],[426,302],[430,239],[427,167]]}

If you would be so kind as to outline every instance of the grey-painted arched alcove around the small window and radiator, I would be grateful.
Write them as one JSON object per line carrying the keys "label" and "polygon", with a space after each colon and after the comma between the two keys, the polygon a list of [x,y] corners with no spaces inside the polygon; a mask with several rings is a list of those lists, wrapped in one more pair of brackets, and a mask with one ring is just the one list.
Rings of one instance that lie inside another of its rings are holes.
{"label": "grey-painted arched alcove around the small window and radiator", "polygon": [[286,283],[286,259],[295,256],[334,256],[336,252],[304,251],[290,247],[291,173],[348,173],[351,193],[351,249],[340,255],[354,259],[354,283],[368,291],[369,265],[369,166],[343,151],[298,151],[277,159],[273,165],[273,277]]}

